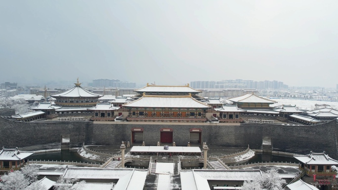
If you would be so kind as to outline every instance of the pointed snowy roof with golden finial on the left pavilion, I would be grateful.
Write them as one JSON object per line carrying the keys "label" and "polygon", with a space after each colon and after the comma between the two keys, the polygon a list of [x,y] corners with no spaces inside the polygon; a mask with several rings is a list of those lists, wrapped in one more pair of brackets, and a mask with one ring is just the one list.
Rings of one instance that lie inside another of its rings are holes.
{"label": "pointed snowy roof with golden finial on the left pavilion", "polygon": [[79,83],[79,79],[77,83],[74,83],[75,86],[66,92],[62,92],[60,94],[51,95],[52,97],[101,97],[103,95],[94,94],[92,92],[87,91],[83,87],[81,87],[81,83]]}

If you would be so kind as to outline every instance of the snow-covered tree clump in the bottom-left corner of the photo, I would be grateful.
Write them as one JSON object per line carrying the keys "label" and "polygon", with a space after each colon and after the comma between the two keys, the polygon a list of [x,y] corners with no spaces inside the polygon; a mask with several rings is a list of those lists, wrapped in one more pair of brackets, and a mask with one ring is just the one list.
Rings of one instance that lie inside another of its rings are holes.
{"label": "snow-covered tree clump in the bottom-left corner of the photo", "polygon": [[21,171],[9,172],[0,177],[0,190],[25,190],[29,185],[28,180],[25,178]]}

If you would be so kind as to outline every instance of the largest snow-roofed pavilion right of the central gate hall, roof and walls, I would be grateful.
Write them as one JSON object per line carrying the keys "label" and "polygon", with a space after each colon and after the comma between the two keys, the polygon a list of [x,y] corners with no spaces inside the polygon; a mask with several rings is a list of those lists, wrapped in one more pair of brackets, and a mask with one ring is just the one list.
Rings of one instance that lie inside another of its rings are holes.
{"label": "largest snow-roofed pavilion right of the central gate hall, roof and walls", "polygon": [[253,93],[247,93],[243,96],[229,98],[231,102],[237,104],[241,109],[270,109],[269,105],[276,103],[275,101],[268,100],[256,96]]}

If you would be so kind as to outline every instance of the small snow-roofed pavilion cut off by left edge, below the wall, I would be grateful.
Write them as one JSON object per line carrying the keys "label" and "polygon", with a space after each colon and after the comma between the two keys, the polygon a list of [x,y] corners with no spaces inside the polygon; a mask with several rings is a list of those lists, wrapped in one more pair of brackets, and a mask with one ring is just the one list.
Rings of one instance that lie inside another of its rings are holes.
{"label": "small snow-roofed pavilion cut off by left edge, below the wall", "polygon": [[25,163],[25,158],[34,152],[23,152],[16,149],[4,149],[0,151],[0,171],[19,170]]}

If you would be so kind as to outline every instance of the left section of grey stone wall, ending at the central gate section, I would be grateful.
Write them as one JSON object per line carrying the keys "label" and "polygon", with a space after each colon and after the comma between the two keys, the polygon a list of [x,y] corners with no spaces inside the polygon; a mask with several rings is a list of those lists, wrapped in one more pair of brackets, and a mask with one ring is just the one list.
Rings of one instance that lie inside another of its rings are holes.
{"label": "left section of grey stone wall, ending at the central gate section", "polygon": [[71,147],[92,141],[91,121],[19,122],[0,117],[0,146],[27,147],[61,143],[62,135],[70,135]]}

